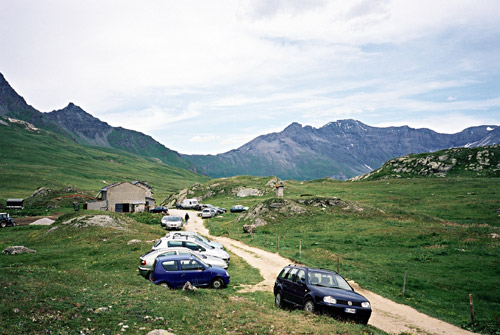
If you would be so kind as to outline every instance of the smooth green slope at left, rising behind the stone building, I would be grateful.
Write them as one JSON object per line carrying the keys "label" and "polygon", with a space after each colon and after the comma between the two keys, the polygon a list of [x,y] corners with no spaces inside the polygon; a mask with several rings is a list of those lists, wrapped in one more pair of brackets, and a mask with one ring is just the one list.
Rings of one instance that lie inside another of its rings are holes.
{"label": "smooth green slope at left, rising behind the stone building", "polygon": [[0,199],[25,198],[40,187],[75,187],[95,195],[119,181],[147,181],[155,197],[206,181],[207,177],[125,151],[78,145],[44,130],[0,124]]}

